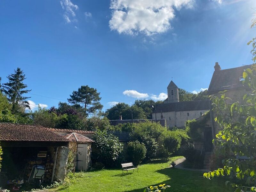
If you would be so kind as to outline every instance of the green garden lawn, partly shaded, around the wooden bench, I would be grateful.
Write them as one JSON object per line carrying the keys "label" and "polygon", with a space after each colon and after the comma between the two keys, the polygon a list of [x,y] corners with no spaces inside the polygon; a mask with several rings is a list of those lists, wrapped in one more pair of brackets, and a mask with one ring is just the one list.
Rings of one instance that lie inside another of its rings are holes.
{"label": "green garden lawn, partly shaded, around the wooden bench", "polygon": [[[168,168],[170,162],[180,157],[172,157],[168,161],[154,160],[139,166],[139,173],[122,175],[121,169],[84,172],[83,177],[76,180],[68,188],[60,187],[54,191],[90,191],[90,192],[143,192],[146,186],[166,183],[171,185],[167,191],[172,192],[228,192],[221,178],[207,180],[202,172]],[[80,174],[80,173],[76,173]]]}

